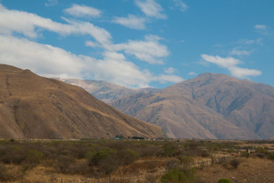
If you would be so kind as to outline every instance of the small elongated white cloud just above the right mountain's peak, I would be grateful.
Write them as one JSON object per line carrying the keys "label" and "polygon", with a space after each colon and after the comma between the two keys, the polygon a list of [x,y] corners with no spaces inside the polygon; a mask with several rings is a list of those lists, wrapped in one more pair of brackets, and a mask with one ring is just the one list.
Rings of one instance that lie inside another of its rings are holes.
{"label": "small elongated white cloud just above the right mountain's peak", "polygon": [[241,61],[236,58],[221,58],[219,56],[208,56],[206,54],[201,55],[201,57],[207,62],[228,69],[234,77],[246,78],[249,76],[258,76],[262,73],[261,71],[258,71],[256,69],[240,68],[237,65],[240,64]]}

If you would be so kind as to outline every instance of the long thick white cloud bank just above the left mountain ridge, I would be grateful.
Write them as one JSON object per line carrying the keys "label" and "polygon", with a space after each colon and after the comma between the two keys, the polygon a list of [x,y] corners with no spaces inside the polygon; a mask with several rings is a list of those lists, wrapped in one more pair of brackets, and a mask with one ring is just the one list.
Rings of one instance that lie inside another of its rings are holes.
{"label": "long thick white cloud bank just above the left mountain ridge", "polygon": [[64,49],[43,45],[25,38],[0,36],[0,62],[31,69],[45,77],[92,78],[132,88],[149,87],[150,82],[180,82],[177,75],[153,75],[140,70],[122,53],[106,51],[102,60],[75,55]]}

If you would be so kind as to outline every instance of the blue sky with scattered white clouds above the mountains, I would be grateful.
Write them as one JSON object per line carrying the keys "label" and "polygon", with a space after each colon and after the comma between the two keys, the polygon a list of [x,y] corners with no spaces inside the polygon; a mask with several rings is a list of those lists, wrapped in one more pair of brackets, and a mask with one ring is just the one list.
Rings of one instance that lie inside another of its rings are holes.
{"label": "blue sky with scattered white clouds above the mountains", "polygon": [[164,88],[205,72],[274,86],[273,0],[0,0],[0,63]]}

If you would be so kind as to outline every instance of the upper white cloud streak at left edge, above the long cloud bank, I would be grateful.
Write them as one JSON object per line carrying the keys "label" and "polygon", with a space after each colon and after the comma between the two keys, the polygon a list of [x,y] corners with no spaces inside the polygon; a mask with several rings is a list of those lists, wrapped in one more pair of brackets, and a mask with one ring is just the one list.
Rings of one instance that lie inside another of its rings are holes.
{"label": "upper white cloud streak at left edge, above the long cloud bank", "polygon": [[69,24],[57,23],[51,19],[45,19],[36,14],[17,10],[7,10],[0,4],[0,33],[9,34],[20,33],[29,38],[38,37],[38,29],[47,29],[62,36],[70,34],[90,35],[101,44],[110,44],[111,35],[105,29],[97,27],[92,23],[82,21],[70,21],[64,19]]}

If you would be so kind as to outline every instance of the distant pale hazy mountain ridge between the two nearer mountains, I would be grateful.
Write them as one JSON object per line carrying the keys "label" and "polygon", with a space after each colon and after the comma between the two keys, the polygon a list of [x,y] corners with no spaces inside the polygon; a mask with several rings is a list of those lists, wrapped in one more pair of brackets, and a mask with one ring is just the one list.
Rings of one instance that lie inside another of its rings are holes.
{"label": "distant pale hazy mountain ridge between the two nearer mountains", "polygon": [[95,96],[97,99],[104,101],[105,103],[110,103],[116,99],[121,99],[127,95],[132,95],[135,93],[155,93],[160,90],[157,88],[131,89],[118,84],[95,80],[55,79],[61,80],[62,82],[66,82],[68,84],[80,86],[87,90],[88,93]]}

